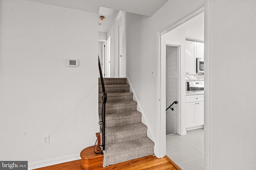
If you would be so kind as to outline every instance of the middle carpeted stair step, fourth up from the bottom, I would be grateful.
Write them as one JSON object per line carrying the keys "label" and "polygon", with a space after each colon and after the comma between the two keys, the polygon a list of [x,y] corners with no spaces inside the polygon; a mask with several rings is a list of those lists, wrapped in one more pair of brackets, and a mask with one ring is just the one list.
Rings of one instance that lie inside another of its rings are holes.
{"label": "middle carpeted stair step, fourth up from the bottom", "polygon": [[[99,114],[101,114],[102,105],[99,104]],[[126,101],[126,102],[112,102],[106,103],[106,114],[111,113],[122,113],[137,110],[137,102]]]}

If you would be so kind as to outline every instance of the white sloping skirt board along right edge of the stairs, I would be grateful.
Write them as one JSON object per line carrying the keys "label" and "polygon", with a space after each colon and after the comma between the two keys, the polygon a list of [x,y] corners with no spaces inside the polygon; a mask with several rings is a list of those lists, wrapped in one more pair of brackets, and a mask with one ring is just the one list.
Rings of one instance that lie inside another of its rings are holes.
{"label": "white sloping skirt board along right edge of the stairs", "polygon": [[129,78],[128,77],[126,77],[126,78],[128,80],[128,84],[130,85],[130,92],[133,93],[133,100],[137,102],[137,110],[142,113],[142,123],[144,123],[144,125],[146,125],[148,127],[147,135],[155,143],[155,145],[154,145],[154,151],[155,151],[156,150],[156,139],[152,133],[152,130],[149,126],[148,120],[146,119],[146,116],[144,114],[144,111],[142,110],[142,107],[140,106],[140,102],[138,101],[138,98],[134,92],[134,89],[132,88],[132,84],[130,83]]}

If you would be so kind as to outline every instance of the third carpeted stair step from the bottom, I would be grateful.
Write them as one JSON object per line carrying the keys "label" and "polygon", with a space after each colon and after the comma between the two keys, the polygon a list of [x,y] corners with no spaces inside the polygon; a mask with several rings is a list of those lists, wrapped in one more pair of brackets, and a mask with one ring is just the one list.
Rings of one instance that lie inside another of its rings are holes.
{"label": "third carpeted stair step from the bottom", "polygon": [[141,117],[142,114],[139,111],[107,114],[106,127],[116,127],[122,125],[141,123]]}

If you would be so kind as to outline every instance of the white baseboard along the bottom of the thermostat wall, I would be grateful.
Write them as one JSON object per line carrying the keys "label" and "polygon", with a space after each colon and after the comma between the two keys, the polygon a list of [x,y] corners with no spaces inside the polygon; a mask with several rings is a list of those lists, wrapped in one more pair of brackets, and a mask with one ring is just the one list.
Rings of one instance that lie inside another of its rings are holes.
{"label": "white baseboard along the bottom of the thermostat wall", "polygon": [[57,157],[57,158],[46,159],[46,160],[28,162],[28,170],[42,168],[42,167],[56,165],[56,164],[61,164],[64,162],[70,162],[70,161],[79,160],[79,159],[81,159],[80,153],[61,156],[61,157]]}

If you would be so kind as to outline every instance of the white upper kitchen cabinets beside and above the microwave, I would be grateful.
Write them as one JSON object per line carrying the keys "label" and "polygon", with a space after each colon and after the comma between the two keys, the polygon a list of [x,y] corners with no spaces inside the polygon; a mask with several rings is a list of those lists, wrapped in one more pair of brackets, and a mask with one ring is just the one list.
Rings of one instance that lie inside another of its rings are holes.
{"label": "white upper kitchen cabinets beside and above the microwave", "polygon": [[186,41],[186,74],[196,74],[196,58],[204,58],[204,43]]}

